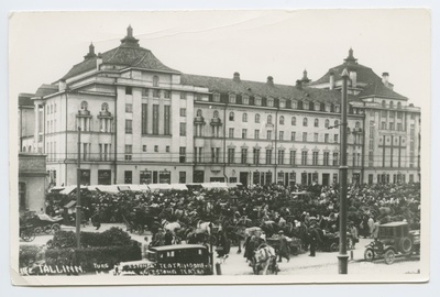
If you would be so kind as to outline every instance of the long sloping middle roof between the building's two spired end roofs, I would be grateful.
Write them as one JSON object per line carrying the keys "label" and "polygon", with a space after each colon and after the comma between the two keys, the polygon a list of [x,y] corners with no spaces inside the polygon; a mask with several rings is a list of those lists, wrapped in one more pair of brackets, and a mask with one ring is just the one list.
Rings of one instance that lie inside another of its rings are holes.
{"label": "long sloping middle roof between the building's two spired end roofs", "polygon": [[[273,97],[296,100],[309,100],[329,103],[340,103],[341,92],[339,90],[324,90],[308,87],[296,87],[261,81],[250,81],[232,78],[221,78],[201,75],[183,74],[180,82],[196,87],[208,88],[212,92],[233,92],[237,95]],[[350,96],[351,100],[358,100]]]}

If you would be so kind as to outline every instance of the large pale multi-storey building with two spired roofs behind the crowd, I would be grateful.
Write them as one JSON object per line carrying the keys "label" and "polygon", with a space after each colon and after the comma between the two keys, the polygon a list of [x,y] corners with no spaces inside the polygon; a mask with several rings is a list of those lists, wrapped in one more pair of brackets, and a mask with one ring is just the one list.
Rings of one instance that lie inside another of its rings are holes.
{"label": "large pale multi-storey building with two spired roofs behind the crowd", "polygon": [[120,46],[19,100],[21,152],[47,155],[53,185],[339,180],[341,73],[349,81],[349,182],[420,180],[420,109],[352,50],[320,79],[292,86],[187,75],[128,29]]}

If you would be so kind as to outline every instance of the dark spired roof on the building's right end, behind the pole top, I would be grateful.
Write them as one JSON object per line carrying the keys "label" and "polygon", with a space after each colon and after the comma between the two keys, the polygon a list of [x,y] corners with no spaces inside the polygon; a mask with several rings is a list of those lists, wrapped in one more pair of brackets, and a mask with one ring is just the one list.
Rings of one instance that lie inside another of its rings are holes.
{"label": "dark spired roof on the building's right end, behind the pole top", "polygon": [[330,81],[330,75],[333,75],[334,81],[342,79],[343,69],[350,72],[356,72],[356,80],[360,82],[367,84],[367,86],[358,95],[359,97],[365,96],[381,96],[391,97],[396,99],[407,100],[405,96],[402,96],[391,88],[386,87],[382,81],[382,77],[376,75],[372,68],[366,67],[358,63],[358,59],[353,56],[353,50],[350,48],[349,56],[344,59],[341,65],[330,68],[321,78],[312,81],[309,86],[316,86],[320,84],[327,84]]}

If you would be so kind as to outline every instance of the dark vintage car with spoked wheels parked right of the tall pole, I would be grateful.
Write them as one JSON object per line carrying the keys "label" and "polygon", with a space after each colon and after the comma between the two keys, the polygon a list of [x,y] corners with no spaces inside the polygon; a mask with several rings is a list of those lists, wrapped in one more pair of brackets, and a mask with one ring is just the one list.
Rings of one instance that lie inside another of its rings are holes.
{"label": "dark vintage car with spoked wheels parked right of the tall pole", "polygon": [[393,264],[397,255],[411,256],[420,253],[420,230],[409,230],[409,224],[389,222],[378,226],[378,235],[366,245],[364,258],[373,261],[383,257],[386,264]]}

